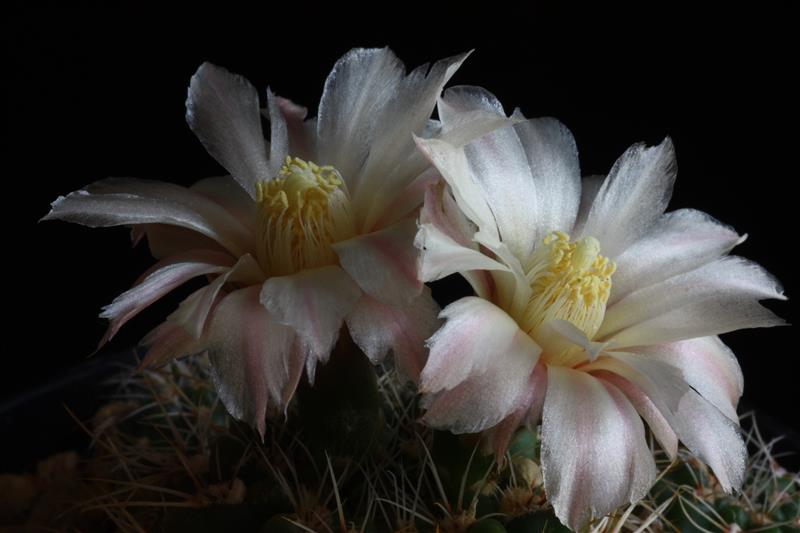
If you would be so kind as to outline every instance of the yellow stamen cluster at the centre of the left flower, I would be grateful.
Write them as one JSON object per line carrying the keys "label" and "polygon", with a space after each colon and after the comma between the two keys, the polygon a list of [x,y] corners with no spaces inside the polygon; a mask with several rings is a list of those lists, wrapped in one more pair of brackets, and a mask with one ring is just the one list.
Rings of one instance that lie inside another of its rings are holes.
{"label": "yellow stamen cluster at the centre of the left flower", "polygon": [[258,260],[270,276],[333,264],[331,244],[353,235],[350,200],[339,173],[286,157],[278,175],[256,183]]}

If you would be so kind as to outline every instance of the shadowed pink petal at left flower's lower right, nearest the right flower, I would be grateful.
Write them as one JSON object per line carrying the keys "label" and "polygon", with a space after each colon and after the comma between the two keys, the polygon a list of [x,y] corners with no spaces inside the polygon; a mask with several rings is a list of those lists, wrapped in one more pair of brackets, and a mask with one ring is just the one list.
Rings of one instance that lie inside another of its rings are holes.
{"label": "shadowed pink petal at left flower's lower right, nearest the right flower", "polygon": [[363,295],[347,316],[355,343],[371,361],[378,363],[391,350],[400,373],[417,382],[425,365],[427,340],[440,325],[439,306],[430,290],[408,305],[392,306]]}

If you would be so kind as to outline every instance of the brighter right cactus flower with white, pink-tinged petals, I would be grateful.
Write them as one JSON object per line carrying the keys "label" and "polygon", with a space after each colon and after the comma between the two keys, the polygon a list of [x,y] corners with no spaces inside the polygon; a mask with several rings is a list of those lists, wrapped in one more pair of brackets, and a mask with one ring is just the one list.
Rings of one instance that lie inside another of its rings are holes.
{"label": "brighter right cactus flower with white, pink-tinged petals", "polygon": [[[501,109],[473,91],[476,108]],[[521,117],[518,117],[521,119]],[[498,453],[542,418],[545,491],[572,528],[647,492],[643,418],[674,456],[680,439],[721,485],[742,482],[742,376],[716,336],[782,321],[743,238],[699,211],[664,210],[676,174],[669,139],[635,145],[609,175],[581,181],[571,133],[519,122],[463,147],[418,140],[433,187],[417,245],[425,281],[454,272],[475,296],[446,307],[420,386],[424,420],[491,428]]]}

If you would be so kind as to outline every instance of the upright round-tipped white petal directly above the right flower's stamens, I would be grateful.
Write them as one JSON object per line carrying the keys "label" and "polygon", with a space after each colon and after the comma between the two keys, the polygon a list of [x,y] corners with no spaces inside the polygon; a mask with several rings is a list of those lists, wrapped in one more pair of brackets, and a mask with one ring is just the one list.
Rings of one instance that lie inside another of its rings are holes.
{"label": "upright round-tipped white petal directly above the right flower's stamens", "polygon": [[536,204],[527,208],[536,212],[538,231],[529,238],[538,243],[553,231],[569,234],[581,197],[578,149],[572,133],[552,118],[520,122],[514,129],[536,187]]}

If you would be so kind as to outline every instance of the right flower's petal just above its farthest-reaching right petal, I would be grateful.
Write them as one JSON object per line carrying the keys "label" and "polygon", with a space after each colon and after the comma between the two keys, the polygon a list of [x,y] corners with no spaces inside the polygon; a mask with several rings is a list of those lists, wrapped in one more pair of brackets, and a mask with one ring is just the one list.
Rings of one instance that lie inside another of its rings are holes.
{"label": "right flower's petal just above its farthest-reaching right petal", "polygon": [[631,292],[701,267],[728,253],[744,237],[694,209],[664,214],[644,237],[615,258],[613,305]]}

